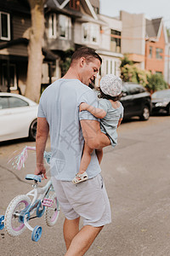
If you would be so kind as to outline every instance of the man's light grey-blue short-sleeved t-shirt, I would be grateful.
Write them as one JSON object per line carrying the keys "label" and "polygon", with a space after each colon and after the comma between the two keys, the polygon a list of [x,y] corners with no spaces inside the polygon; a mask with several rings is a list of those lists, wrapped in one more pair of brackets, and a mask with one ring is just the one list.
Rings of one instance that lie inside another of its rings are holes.
{"label": "man's light grey-blue short-sleeved t-shirt", "polygon": [[[50,131],[51,176],[58,180],[71,181],[79,171],[84,144],[80,120],[98,120],[88,111],[79,112],[82,102],[98,107],[94,91],[78,79],[55,81],[40,99],[38,117],[47,119]],[[89,178],[101,172],[95,150],[87,172]]]}

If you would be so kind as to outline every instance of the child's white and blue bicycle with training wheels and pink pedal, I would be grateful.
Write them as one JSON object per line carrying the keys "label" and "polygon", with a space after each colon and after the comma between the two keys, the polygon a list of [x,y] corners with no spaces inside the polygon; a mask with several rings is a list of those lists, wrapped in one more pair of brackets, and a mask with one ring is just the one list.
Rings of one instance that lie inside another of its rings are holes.
{"label": "child's white and blue bicycle with training wheels and pink pedal", "polygon": [[[49,162],[49,160],[50,157],[48,156],[47,161]],[[22,165],[24,166],[24,162]],[[26,180],[33,181],[33,189],[26,195],[17,195],[9,203],[5,215],[0,215],[0,230],[5,227],[9,236],[20,236],[27,227],[32,231],[32,241],[38,241],[42,236],[42,227],[37,225],[32,228],[31,219],[41,218],[44,213],[46,224],[49,227],[54,226],[59,217],[59,202],[51,180],[42,188],[38,187],[38,183],[42,181],[42,176],[27,174]],[[32,200],[31,196],[33,196]],[[34,216],[32,216],[33,214]]]}

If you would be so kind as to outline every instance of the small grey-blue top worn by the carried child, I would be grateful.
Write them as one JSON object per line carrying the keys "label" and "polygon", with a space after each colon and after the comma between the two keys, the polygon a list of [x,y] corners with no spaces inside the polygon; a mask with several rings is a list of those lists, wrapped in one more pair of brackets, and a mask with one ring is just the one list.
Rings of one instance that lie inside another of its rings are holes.
{"label": "small grey-blue top worn by the carried child", "polygon": [[99,108],[106,112],[105,118],[100,119],[100,129],[110,138],[111,146],[114,148],[117,143],[116,128],[118,121],[123,118],[122,103],[120,102],[119,108],[113,108],[109,100],[99,99]]}

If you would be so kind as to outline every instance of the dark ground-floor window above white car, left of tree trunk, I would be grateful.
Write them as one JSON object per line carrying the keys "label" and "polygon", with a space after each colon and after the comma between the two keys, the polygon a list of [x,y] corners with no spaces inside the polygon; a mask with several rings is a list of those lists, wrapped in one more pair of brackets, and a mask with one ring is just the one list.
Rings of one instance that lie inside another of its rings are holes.
{"label": "dark ground-floor window above white car, left of tree trunk", "polygon": [[2,65],[2,84],[8,86],[8,75],[10,90],[17,90],[17,79],[16,79],[16,67],[14,64],[9,64],[9,74],[8,74],[7,64]]}

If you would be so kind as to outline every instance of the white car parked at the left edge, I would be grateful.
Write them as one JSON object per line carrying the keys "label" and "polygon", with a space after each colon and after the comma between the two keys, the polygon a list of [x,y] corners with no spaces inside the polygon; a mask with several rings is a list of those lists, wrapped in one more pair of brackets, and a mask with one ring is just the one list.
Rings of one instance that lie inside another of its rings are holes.
{"label": "white car parked at the left edge", "polygon": [[0,92],[0,142],[21,137],[36,139],[38,104],[25,96]]}

